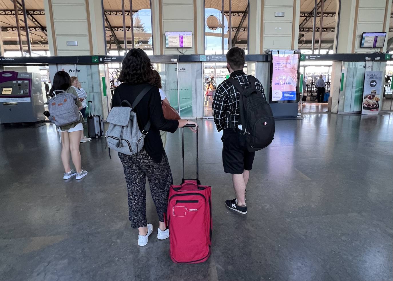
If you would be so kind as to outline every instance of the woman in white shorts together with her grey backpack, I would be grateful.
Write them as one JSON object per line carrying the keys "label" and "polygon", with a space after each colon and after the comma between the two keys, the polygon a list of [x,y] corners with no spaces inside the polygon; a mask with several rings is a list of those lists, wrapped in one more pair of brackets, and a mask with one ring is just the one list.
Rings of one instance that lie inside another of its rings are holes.
{"label": "woman in white shorts together with her grey backpack", "polygon": [[[82,104],[73,93],[67,92],[71,87],[71,79],[67,72],[56,72],[52,88],[49,91],[51,99],[48,101],[50,120],[60,127],[61,132],[61,161],[64,166],[63,179],[76,176],[81,179],[87,175],[86,170],[82,170],[81,153],[79,144],[81,141],[81,131],[83,130],[83,117],[79,113]],[[70,166],[70,152],[75,170]]]}

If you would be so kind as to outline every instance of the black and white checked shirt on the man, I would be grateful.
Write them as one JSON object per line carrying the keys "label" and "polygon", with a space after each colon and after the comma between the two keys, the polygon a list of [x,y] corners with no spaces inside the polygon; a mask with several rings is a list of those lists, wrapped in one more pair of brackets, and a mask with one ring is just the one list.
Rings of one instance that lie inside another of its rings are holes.
{"label": "black and white checked shirt on the man", "polygon": [[[240,85],[246,84],[248,86],[249,75],[245,74],[243,70],[233,71],[230,77],[238,79]],[[256,78],[255,80],[255,87],[263,94],[263,98],[266,99],[261,82]],[[231,122],[237,127],[237,124],[239,124],[240,109],[239,91],[237,91],[235,86],[226,80],[223,81],[216,89],[212,107],[214,122],[219,131],[231,128]]]}

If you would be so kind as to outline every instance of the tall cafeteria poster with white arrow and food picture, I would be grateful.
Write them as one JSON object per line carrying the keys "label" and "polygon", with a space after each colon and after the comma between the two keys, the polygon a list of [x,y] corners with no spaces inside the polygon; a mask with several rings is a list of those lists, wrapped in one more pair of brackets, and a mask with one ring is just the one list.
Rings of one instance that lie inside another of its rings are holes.
{"label": "tall cafeteria poster with white arrow and food picture", "polygon": [[378,114],[384,92],[382,78],[382,71],[365,72],[362,114]]}

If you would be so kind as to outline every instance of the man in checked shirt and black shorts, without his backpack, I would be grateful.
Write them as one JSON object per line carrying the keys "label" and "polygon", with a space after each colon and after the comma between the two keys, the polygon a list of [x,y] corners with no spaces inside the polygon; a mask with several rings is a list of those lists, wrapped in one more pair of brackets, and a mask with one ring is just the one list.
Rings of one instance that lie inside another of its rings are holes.
{"label": "man in checked shirt and black shorts, without his backpack", "polygon": [[[230,77],[239,80],[244,89],[255,87],[257,91],[264,95],[261,82],[255,79],[255,85],[249,85],[250,75],[243,71],[245,63],[245,53],[241,48],[233,47],[226,54],[226,67],[230,72]],[[239,129],[240,108],[239,91],[227,80],[223,81],[216,89],[213,98],[213,118],[218,131],[222,133],[222,164],[224,172],[232,174],[233,187],[236,197],[233,200],[226,200],[225,205],[241,214],[247,213],[246,206],[246,185],[250,177],[250,170],[254,161],[255,152],[240,146],[237,132]]]}

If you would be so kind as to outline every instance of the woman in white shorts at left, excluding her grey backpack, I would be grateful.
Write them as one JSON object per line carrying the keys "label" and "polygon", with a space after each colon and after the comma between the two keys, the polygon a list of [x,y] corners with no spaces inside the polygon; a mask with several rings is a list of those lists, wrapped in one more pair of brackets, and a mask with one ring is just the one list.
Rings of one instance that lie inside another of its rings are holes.
{"label": "woman in white shorts at left, excluding her grey backpack", "polygon": [[[53,97],[53,91],[62,90],[66,92],[71,87],[71,79],[67,72],[58,71],[56,72],[52,88],[49,91],[49,95]],[[82,109],[82,103],[79,99],[76,100],[76,105],[79,110]],[[79,152],[79,143],[81,140],[81,131],[83,132],[82,115],[79,121],[72,124],[68,124],[60,127],[61,132],[61,161],[64,166],[64,176],[63,179],[69,179],[76,176],[76,179],[81,179],[87,175],[86,170],[82,170],[81,164],[81,153]],[[75,166],[75,170],[70,167],[70,152],[72,157],[72,163]]]}

